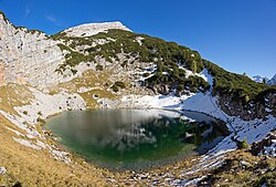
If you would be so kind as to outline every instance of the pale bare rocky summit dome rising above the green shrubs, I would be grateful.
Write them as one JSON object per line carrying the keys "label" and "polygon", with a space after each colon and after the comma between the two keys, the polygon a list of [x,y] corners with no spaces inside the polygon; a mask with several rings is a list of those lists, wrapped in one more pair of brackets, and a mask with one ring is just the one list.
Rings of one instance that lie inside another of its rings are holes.
{"label": "pale bare rocky summit dome rising above the green shrubs", "polygon": [[121,22],[102,22],[102,23],[85,23],[64,30],[68,37],[91,37],[99,32],[106,32],[109,29],[119,29],[130,31]]}

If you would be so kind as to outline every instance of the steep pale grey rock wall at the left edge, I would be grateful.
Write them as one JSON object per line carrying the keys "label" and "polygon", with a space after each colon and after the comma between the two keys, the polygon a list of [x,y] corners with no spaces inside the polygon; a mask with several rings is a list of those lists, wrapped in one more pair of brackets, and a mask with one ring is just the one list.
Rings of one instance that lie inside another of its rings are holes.
{"label": "steep pale grey rock wall at the left edge", "polygon": [[15,28],[0,14],[0,85],[12,82],[43,87],[63,79],[55,73],[63,53],[45,33]]}

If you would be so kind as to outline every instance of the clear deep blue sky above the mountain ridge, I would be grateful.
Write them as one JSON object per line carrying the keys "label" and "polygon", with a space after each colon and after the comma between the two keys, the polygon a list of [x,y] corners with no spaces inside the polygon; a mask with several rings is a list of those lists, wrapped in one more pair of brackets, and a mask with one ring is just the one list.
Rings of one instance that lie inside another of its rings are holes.
{"label": "clear deep blue sky above the mountain ridge", "polygon": [[0,0],[15,25],[49,34],[103,21],[198,50],[222,67],[276,73],[276,0]]}

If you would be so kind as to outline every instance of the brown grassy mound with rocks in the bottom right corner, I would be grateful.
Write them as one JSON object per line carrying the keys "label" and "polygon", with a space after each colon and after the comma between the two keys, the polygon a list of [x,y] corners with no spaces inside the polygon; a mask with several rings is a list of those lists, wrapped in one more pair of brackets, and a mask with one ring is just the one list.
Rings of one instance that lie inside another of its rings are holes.
{"label": "brown grassy mound with rocks in the bottom right corner", "polygon": [[[242,166],[246,162],[247,166]],[[245,149],[227,154],[225,164],[210,173],[212,186],[258,187],[276,185],[276,158],[253,156]]]}

